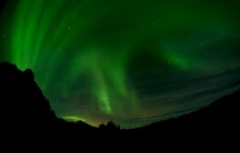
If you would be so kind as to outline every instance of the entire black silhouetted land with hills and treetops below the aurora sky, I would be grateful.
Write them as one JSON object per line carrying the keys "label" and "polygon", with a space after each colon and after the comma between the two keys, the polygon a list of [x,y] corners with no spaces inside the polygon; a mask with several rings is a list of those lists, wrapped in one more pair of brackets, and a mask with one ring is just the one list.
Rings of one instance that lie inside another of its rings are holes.
{"label": "entire black silhouetted land with hills and treetops below the aurora sky", "polygon": [[69,143],[82,147],[86,147],[84,144],[117,146],[111,152],[146,144],[157,148],[172,145],[169,149],[177,144],[186,148],[190,144],[199,148],[213,144],[217,148],[224,145],[230,145],[229,149],[239,148],[239,103],[240,90],[193,113],[145,127],[122,130],[109,122],[95,128],[58,118],[30,69],[22,72],[8,62],[0,64],[0,134],[2,141],[11,143],[42,140],[59,144],[58,147]]}

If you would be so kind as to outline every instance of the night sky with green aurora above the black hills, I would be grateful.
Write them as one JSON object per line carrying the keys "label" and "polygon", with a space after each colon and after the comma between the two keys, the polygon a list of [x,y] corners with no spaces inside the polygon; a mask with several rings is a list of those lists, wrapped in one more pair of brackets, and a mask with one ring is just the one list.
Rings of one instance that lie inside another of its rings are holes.
{"label": "night sky with green aurora above the black hills", "polygon": [[1,2],[0,61],[31,68],[52,109],[135,128],[240,87],[236,0]]}

